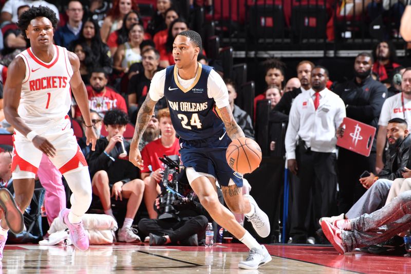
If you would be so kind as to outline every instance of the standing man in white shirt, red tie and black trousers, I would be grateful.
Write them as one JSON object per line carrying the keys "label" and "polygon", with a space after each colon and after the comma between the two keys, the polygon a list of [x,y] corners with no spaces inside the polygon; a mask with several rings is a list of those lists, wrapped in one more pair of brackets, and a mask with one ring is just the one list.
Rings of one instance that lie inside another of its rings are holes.
{"label": "standing man in white shirt, red tie and black trousers", "polygon": [[[300,178],[292,188],[292,243],[305,244],[310,236],[309,228],[319,228],[321,215],[331,213],[336,207],[335,143],[337,133],[342,131],[345,105],[326,88],[327,81],[328,70],[315,66],[311,71],[312,89],[298,95],[291,106],[285,139],[287,163],[288,169]],[[316,221],[312,220],[312,224],[306,222],[310,201]]]}

